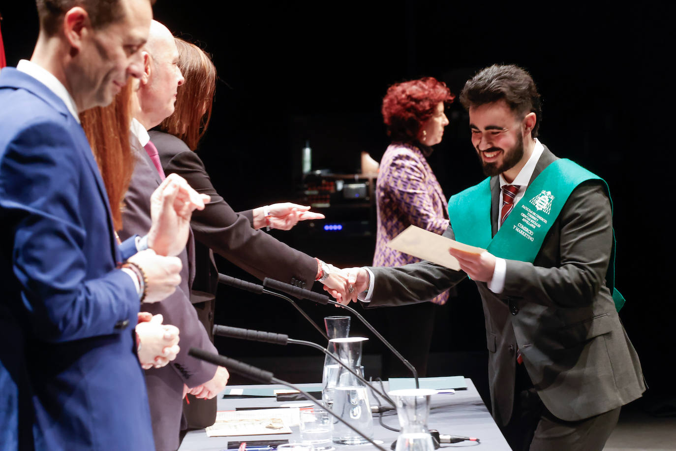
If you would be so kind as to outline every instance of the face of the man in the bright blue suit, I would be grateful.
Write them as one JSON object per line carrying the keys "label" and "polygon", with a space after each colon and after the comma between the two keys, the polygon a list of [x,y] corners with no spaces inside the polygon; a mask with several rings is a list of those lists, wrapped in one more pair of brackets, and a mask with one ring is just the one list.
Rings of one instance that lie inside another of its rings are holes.
{"label": "face of the man in the bright blue suit", "polygon": [[122,19],[91,29],[82,39],[80,76],[74,99],[80,111],[108,105],[129,76],[143,73],[139,51],[148,37],[152,9],[147,0],[121,0]]}

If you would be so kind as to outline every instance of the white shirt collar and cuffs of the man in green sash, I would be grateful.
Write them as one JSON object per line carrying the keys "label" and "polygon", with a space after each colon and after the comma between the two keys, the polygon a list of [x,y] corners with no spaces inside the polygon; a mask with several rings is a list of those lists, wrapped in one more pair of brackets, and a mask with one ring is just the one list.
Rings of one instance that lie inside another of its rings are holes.
{"label": "white shirt collar and cuffs of the man in green sash", "polygon": [[[500,199],[498,200],[498,206],[502,206],[502,187],[504,185],[518,185],[519,189],[516,195],[514,196],[514,204],[518,201],[521,200],[523,197],[524,193],[526,192],[526,189],[528,188],[528,184],[531,181],[531,176],[533,176],[533,171],[535,170],[535,165],[537,164],[537,161],[540,159],[540,156],[542,155],[542,152],[544,151],[544,145],[540,143],[539,139],[535,139],[535,147],[533,147],[533,153],[531,153],[531,157],[528,159],[526,164],[521,168],[521,171],[518,172],[516,177],[514,177],[514,181],[512,183],[507,183],[505,179],[502,177],[502,174],[500,174]],[[501,209],[498,208],[498,211]],[[499,216],[499,215],[498,215]],[[500,218],[498,217],[498,230],[500,230]],[[364,292],[360,293],[358,296],[359,300],[362,302],[370,302],[371,296],[373,293],[373,285],[375,282],[375,277],[373,275],[373,272],[368,269],[364,268],[368,272],[368,277],[369,277],[369,282],[368,282],[368,292],[366,292],[366,295],[364,295]],[[493,291],[493,293],[499,294],[502,293],[502,290],[504,289],[505,286],[505,275],[507,272],[507,262],[504,260],[504,258],[499,258],[496,257],[496,267],[493,269],[493,278],[486,284],[488,289]],[[362,299],[363,297],[363,299]]]}

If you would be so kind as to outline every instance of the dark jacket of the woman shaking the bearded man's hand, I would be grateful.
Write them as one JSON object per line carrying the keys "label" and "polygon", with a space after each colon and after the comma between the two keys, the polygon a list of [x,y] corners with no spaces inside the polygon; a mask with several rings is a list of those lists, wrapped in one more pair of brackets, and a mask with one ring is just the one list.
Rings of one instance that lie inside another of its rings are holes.
{"label": "dark jacket of the woman shaking the bearded man's hand", "polygon": [[[253,229],[253,212],[236,213],[214,189],[209,174],[197,153],[180,139],[151,131],[150,139],[160,152],[166,174],[183,176],[198,193],[211,196],[202,211],[193,212],[191,227],[195,234],[195,281],[191,300],[200,321],[211,333],[214,327],[218,269],[214,254],[227,258],[251,275],[270,277],[299,287],[309,287],[317,273],[317,262],[277,241],[263,231]],[[212,337],[213,339],[213,337]],[[212,425],[216,419],[216,400],[197,400],[189,395],[184,404],[188,427]]]}

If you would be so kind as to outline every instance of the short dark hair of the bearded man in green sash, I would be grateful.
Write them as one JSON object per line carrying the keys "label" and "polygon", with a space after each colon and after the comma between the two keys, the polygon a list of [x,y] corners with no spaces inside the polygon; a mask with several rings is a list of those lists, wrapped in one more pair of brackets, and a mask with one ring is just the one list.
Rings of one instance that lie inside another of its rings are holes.
{"label": "short dark hair of the bearded man in green sash", "polygon": [[514,64],[493,64],[467,80],[460,93],[460,102],[467,110],[500,100],[506,101],[512,112],[519,116],[535,113],[531,137],[537,138],[542,121],[540,95],[531,74],[526,70]]}

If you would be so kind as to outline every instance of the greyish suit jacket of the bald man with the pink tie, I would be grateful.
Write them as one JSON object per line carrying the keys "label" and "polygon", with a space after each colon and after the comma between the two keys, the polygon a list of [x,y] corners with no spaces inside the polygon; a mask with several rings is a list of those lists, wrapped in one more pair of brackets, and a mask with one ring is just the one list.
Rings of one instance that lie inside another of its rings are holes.
{"label": "greyish suit jacket of the bald man with the pink tie", "polygon": [[[135,138],[132,149],[136,158],[134,174],[129,190],[124,197],[123,224],[120,237],[145,234],[150,229],[150,196],[162,183],[160,175],[147,153]],[[150,412],[157,451],[176,450],[183,410],[183,384],[196,387],[214,377],[216,366],[187,355],[191,347],[216,352],[209,335],[197,318],[190,302],[190,284],[194,274],[189,245],[178,257],[183,263],[180,272],[181,283],[168,298],[154,304],[143,304],[141,310],[152,314],[161,313],[165,324],[172,324],[180,330],[180,352],[176,360],[160,369],[145,371]],[[143,343],[141,343],[143,346]]]}

